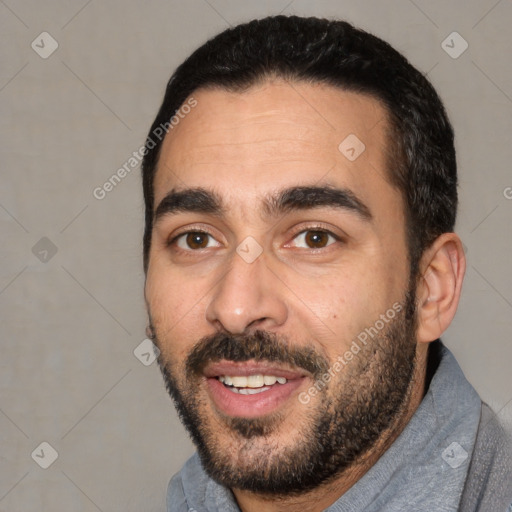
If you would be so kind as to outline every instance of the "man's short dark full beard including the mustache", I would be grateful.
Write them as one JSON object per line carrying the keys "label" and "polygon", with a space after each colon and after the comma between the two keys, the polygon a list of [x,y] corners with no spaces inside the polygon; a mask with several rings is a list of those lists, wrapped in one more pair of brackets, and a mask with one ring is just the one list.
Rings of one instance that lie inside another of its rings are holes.
{"label": "man's short dark full beard including the mustache", "polygon": [[[282,336],[254,331],[202,338],[180,369],[164,361],[162,352],[158,363],[167,391],[206,473],[227,488],[270,498],[313,490],[357,463],[393,426],[410,397],[416,366],[412,289],[403,306],[360,347],[336,378],[322,382],[310,407],[297,400],[293,428],[288,429],[292,436],[288,438],[284,437],[287,432],[282,426],[287,418],[282,412],[258,418],[217,412],[210,421],[212,408],[205,393],[198,392],[204,379],[202,370],[220,360],[265,361],[306,370],[315,383],[320,383],[334,362],[315,347],[294,347]],[[160,345],[158,336],[156,343]]]}

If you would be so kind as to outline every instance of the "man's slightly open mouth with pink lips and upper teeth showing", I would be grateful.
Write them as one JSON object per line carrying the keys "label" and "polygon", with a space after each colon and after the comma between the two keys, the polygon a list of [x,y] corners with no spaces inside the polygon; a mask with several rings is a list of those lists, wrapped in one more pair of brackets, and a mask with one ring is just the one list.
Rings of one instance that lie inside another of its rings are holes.
{"label": "man's slightly open mouth with pink lips and upper teeth showing", "polygon": [[225,415],[241,418],[277,411],[308,380],[306,372],[254,361],[210,364],[203,374],[214,406]]}

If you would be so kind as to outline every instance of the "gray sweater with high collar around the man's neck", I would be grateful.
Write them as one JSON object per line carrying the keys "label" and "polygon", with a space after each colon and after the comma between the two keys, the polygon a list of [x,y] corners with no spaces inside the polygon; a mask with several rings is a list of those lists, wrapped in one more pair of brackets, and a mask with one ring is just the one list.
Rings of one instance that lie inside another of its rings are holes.
{"label": "gray sweater with high collar around the man's neck", "polygon": [[[376,464],[326,512],[512,512],[512,444],[451,352],[420,406]],[[168,512],[240,512],[197,454],[169,482]]]}

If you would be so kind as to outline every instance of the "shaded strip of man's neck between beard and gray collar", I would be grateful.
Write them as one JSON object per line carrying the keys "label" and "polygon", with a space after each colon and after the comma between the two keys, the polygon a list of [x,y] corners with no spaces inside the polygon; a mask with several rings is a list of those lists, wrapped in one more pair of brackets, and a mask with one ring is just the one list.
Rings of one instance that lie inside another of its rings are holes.
{"label": "shaded strip of man's neck between beard and gray collar", "polygon": [[417,364],[404,405],[372,449],[363,454],[335,480],[300,496],[262,496],[232,489],[242,512],[321,512],[335,503],[380,459],[402,433],[425,394],[428,344],[419,344]]}

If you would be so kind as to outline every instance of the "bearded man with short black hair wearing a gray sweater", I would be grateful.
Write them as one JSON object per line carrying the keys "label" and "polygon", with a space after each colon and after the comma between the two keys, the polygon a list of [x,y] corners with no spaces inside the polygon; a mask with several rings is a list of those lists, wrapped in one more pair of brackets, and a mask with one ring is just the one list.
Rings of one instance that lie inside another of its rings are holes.
{"label": "bearded man with short black hair wearing a gray sweater", "polygon": [[198,450],[168,510],[505,512],[505,433],[439,340],[465,258],[427,79],[341,21],[252,21],[146,149],[148,336]]}

